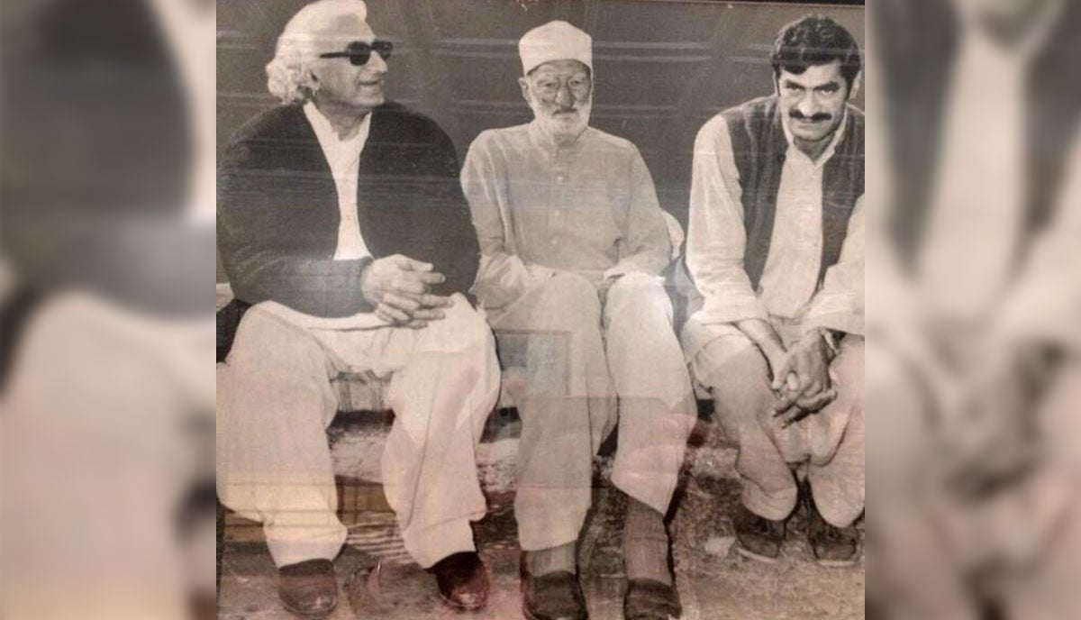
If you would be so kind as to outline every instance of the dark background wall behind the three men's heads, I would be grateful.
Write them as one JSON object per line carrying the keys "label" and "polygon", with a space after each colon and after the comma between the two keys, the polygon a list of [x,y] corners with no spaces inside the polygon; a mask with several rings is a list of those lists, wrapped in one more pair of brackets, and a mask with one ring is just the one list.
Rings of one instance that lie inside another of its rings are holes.
{"label": "dark background wall behind the three men's heads", "polygon": [[[275,105],[263,67],[306,0],[218,0],[217,138]],[[810,12],[864,44],[864,9],[663,0],[368,0],[369,23],[395,41],[389,96],[436,119],[465,156],[482,130],[532,118],[518,89],[518,39],[550,19],[593,37],[591,124],[642,151],[662,206],[686,223],[691,149],[718,111],[773,90],[777,30]],[[856,104],[863,107],[862,93]]]}

